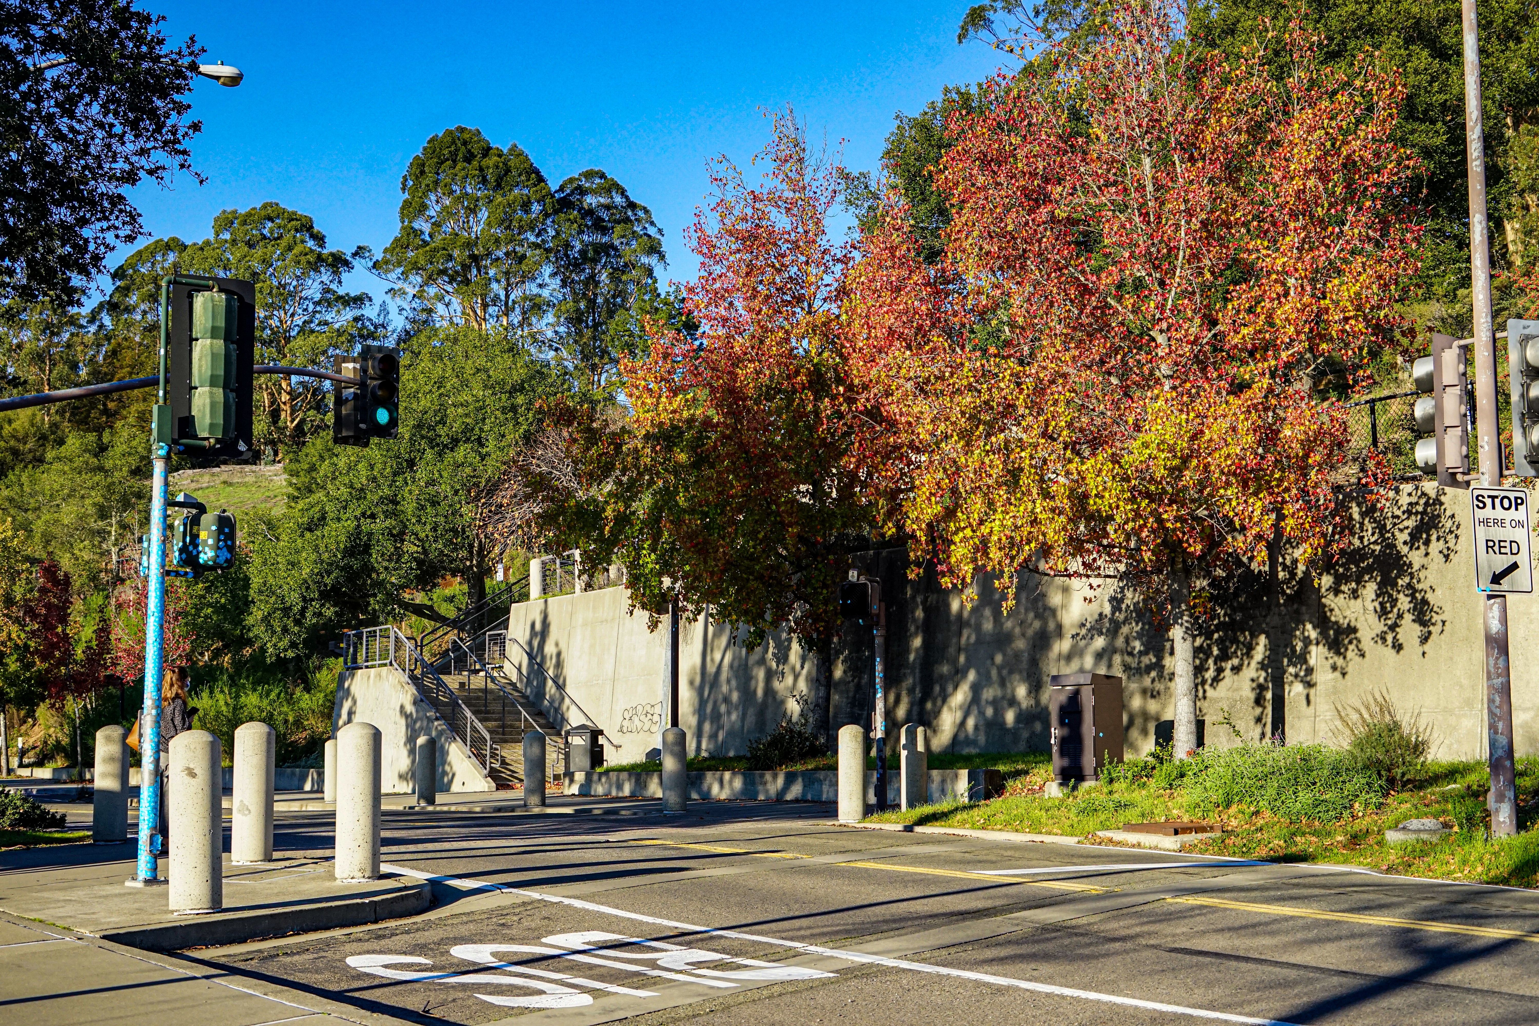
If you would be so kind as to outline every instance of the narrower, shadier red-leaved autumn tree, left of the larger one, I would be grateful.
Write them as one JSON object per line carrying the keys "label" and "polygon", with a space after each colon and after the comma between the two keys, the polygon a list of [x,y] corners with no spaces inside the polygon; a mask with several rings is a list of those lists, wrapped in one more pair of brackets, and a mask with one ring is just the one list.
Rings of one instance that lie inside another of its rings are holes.
{"label": "narrower, shadier red-leaved autumn tree, left of the larger one", "polygon": [[574,428],[585,554],[625,563],[633,606],[711,614],[749,646],[788,629],[814,654],[811,728],[828,738],[837,588],[870,546],[868,489],[848,458],[840,323],[853,243],[828,234],[839,169],[808,152],[790,111],[749,180],[720,158],[714,198],[686,232],[697,332],[657,334],[622,361],[629,418]]}

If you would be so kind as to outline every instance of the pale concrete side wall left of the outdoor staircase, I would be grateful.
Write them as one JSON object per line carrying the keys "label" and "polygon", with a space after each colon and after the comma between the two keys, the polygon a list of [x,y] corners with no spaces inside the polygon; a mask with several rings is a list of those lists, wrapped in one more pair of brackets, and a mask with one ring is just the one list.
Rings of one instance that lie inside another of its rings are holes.
{"label": "pale concrete side wall left of the outdoor staircase", "polygon": [[337,674],[337,703],[331,732],[348,723],[372,723],[380,731],[380,792],[411,794],[417,738],[432,732],[439,745],[439,791],[496,791],[480,766],[454,743],[443,723],[406,675],[392,666],[352,669]]}

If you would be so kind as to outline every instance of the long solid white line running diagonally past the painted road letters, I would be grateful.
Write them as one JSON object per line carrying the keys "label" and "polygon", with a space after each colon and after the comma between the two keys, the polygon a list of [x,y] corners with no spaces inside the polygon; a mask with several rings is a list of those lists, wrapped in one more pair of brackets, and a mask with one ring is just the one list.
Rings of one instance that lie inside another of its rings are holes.
{"label": "long solid white line running diagonally past the painted road letters", "polygon": [[[643,915],[640,912],[626,912],[625,909],[609,908],[606,904],[597,904],[594,901],[583,901],[582,898],[566,898],[559,894],[542,894],[539,891],[523,891],[520,888],[508,888],[500,883],[480,883],[476,880],[460,880],[459,877],[445,877],[440,874],[423,872],[420,869],[408,869],[406,866],[391,866],[382,864],[385,872],[397,872],[403,877],[416,877],[419,880],[428,880],[431,883],[445,883],[456,888],[463,888],[468,891],[499,891],[502,894],[517,894],[520,897],[534,898],[537,901],[551,901],[554,904],[566,904],[574,909],[585,909],[588,912],[602,912],[605,915],[617,915],[620,918],[628,918],[637,923],[649,923],[653,926],[668,926],[669,929],[689,932],[689,934],[705,934],[708,937],[729,937],[733,940],[748,940],[757,941],[760,944],[771,944],[776,948],[790,948],[810,955],[826,955],[831,958],[842,958],[845,961],[857,961],[862,964],[886,966],[890,969],[908,969],[911,972],[928,972],[931,975],[954,977],[959,980],[976,980],[979,983],[994,983],[999,986],[1019,988],[1022,991],[1033,991],[1036,994],[1051,994],[1054,997],[1071,997],[1087,1001],[1103,1001],[1107,1004],[1122,1004],[1125,1008],[1140,1008],[1151,1012],[1170,1012],[1173,1015],[1190,1015],[1194,1018],[1210,1018],[1222,1023],[1244,1023],[1245,1026],[1297,1026],[1296,1023],[1285,1023],[1274,1018],[1254,1018],[1251,1015],[1233,1015],[1230,1012],[1213,1012],[1200,1008],[1187,1008],[1183,1004],[1165,1004],[1163,1001],[1145,1001],[1136,997],[1120,997],[1117,994],[1099,994],[1096,991],[1079,991],[1074,988],[1060,988],[1051,983],[1036,983],[1033,980],[1017,980],[1016,977],[996,977],[986,972],[973,972],[970,969],[951,969],[946,966],[934,966],[923,961],[906,961],[903,958],[885,958],[882,955],[868,955],[859,951],[843,951],[839,948],[822,948],[819,944],[803,944],[794,940],[782,940],[777,937],[763,937],[760,934],[743,934],[740,931],[731,929],[713,929],[709,926],[696,926],[693,923],[679,923],[676,920],[665,920],[656,915]],[[477,995],[479,997],[479,995]]]}

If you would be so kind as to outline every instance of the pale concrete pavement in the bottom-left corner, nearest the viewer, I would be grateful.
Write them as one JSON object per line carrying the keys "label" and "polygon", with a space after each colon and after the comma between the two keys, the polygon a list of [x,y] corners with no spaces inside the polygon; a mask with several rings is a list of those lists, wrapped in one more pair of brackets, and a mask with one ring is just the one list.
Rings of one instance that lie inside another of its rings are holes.
{"label": "pale concrete pavement in the bottom-left corner, nearest the viewer", "polygon": [[155,1026],[397,1023],[217,966],[131,951],[0,914],[0,1018]]}

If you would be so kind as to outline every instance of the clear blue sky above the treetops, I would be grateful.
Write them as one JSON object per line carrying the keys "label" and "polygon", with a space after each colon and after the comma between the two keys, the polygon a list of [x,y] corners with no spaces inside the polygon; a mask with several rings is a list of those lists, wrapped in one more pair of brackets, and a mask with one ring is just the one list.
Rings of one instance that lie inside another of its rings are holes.
{"label": "clear blue sky above the treetops", "polygon": [[[165,31],[245,83],[199,80],[199,186],[182,177],[132,198],[152,235],[203,238],[215,212],[265,200],[311,214],[331,246],[380,251],[396,234],[400,175],[434,132],[480,128],[517,142],[553,185],[585,168],[619,178],[663,229],[668,278],[694,260],[682,229],[706,162],[745,162],[760,109],[794,105],[845,163],[876,168],[896,111],[999,65],[957,46],[960,2],[802,3],[248,3],[145,0]],[[126,255],[126,251],[119,255]],[[365,274],[352,288],[376,298]]]}

